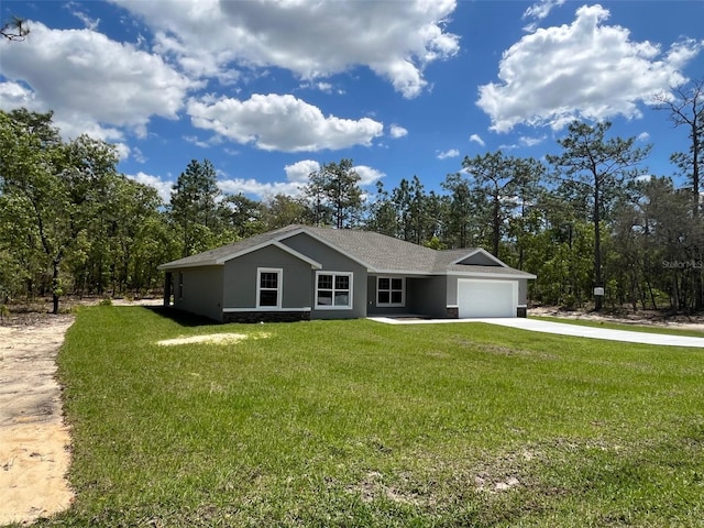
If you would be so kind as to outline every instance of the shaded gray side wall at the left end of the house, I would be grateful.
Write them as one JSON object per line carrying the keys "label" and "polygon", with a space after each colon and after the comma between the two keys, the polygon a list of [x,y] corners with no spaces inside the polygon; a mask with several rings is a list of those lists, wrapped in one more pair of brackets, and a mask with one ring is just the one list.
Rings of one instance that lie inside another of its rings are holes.
{"label": "shaded gray side wall at the left end of the house", "polygon": [[[179,277],[183,273],[183,297]],[[222,320],[222,266],[175,270],[174,307],[179,310]]]}

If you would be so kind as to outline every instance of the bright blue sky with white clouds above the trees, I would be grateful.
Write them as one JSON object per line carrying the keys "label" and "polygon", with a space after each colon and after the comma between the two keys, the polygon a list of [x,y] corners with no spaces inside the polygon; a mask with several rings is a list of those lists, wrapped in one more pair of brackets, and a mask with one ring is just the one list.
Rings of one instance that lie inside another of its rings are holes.
{"label": "bright blue sky with white clouds above the trees", "polygon": [[652,100],[704,78],[704,0],[3,0],[13,15],[31,34],[0,42],[0,108],[116,143],[166,200],[205,158],[257,199],[343,157],[370,193],[441,190],[465,155],[559,153],[574,118],[672,175],[686,131]]}

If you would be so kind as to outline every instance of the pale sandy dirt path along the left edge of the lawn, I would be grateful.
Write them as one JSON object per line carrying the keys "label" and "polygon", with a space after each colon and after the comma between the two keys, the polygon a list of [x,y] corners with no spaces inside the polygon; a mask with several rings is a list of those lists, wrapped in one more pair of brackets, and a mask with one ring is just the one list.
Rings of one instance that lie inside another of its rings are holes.
{"label": "pale sandy dirt path along the left edge of the lawn", "polygon": [[56,354],[74,316],[0,326],[0,525],[31,524],[70,506],[70,438]]}

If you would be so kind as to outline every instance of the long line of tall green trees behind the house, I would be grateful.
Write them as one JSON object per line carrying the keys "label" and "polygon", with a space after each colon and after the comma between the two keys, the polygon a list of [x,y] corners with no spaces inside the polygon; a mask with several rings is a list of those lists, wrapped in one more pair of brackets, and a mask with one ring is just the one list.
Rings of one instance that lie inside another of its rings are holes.
{"label": "long line of tall green trees behind the house", "polygon": [[[530,299],[561,306],[701,310],[704,306],[704,85],[661,98],[688,144],[679,188],[648,172],[649,145],[575,121],[544,161],[466,156],[437,190],[409,175],[360,188],[352,160],[321,165],[299,196],[226,195],[216,167],[190,161],[164,202],[117,170],[114,147],[63,141],[51,113],[0,111],[0,302],[143,295],[161,263],[292,223],[366,229],[435,249],[480,246],[535,273]],[[603,288],[604,296],[595,296]]]}

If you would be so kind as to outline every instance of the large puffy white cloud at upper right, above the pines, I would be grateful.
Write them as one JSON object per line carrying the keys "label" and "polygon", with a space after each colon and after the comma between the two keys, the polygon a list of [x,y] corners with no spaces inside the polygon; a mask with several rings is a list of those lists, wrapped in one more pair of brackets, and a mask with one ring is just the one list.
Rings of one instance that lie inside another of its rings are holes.
{"label": "large puffy white cloud at upper right, above the pines", "polygon": [[492,118],[491,129],[638,118],[638,103],[683,82],[682,66],[704,47],[704,41],[682,41],[662,54],[648,41],[630,41],[627,29],[603,25],[608,15],[598,4],[581,7],[572,24],[539,29],[504,52],[501,82],[481,86],[476,102]]}

